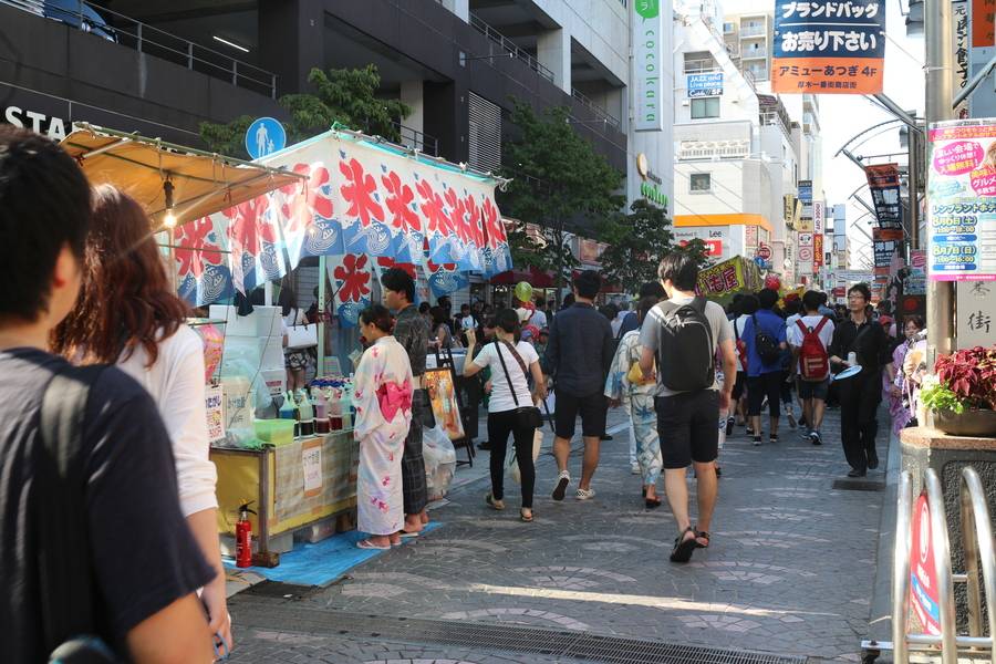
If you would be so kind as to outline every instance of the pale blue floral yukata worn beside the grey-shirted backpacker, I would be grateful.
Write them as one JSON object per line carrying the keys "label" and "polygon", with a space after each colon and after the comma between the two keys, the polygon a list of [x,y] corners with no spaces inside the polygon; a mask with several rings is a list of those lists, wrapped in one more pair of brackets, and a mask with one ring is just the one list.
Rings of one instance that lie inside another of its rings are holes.
{"label": "pale blue floral yukata worn beside the grey-shirted backpacker", "polygon": [[636,436],[636,463],[643,484],[652,485],[661,477],[661,440],[657,436],[657,413],[654,411],[656,384],[635,385],[626,374],[634,363],[640,362],[640,330],[623,334],[612,357],[609,377],[605,378],[605,396],[621,400],[633,422]]}

